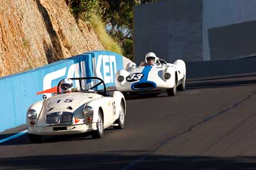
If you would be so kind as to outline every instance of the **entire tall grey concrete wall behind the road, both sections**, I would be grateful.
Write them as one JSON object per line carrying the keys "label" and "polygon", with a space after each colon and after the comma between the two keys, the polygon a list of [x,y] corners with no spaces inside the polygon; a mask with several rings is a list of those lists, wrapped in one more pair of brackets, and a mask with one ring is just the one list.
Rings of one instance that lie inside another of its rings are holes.
{"label": "entire tall grey concrete wall behind the road, both sections", "polygon": [[134,60],[173,62],[256,55],[255,0],[160,0],[134,6]]}

